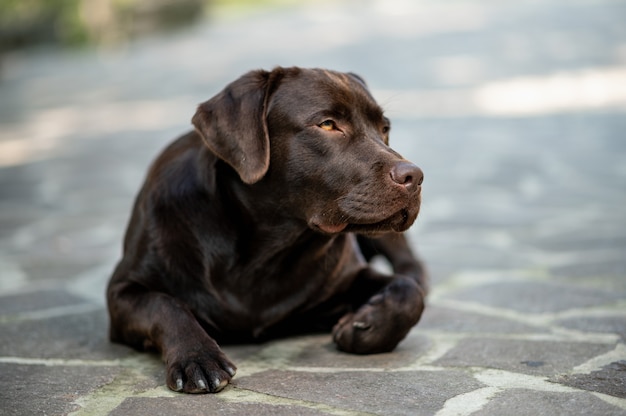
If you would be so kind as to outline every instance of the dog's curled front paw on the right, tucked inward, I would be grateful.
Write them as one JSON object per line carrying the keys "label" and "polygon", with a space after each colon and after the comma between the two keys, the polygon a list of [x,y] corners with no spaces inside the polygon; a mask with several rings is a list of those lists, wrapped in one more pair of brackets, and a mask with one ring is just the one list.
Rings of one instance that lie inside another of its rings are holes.
{"label": "dog's curled front paw on the right, tucked inward", "polygon": [[344,315],[333,328],[337,348],[354,354],[393,350],[419,321],[424,292],[410,279],[396,279],[355,313]]}

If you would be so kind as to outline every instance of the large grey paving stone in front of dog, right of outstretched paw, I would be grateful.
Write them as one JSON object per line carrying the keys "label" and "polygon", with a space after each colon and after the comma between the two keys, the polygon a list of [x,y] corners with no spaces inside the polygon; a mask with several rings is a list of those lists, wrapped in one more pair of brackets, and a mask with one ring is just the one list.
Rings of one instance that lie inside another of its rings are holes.
{"label": "large grey paving stone in front of dog, right of outstretched paw", "polygon": [[482,384],[460,371],[305,373],[270,370],[239,388],[380,415],[432,415],[449,397]]}

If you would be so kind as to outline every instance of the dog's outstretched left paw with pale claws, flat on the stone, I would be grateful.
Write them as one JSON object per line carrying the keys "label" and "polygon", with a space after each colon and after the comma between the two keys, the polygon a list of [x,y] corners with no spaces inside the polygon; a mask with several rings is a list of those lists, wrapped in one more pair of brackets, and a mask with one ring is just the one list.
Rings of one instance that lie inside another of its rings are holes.
{"label": "dog's outstretched left paw with pale claws, flat on the stone", "polygon": [[226,387],[237,367],[215,342],[212,344],[169,351],[165,363],[167,386],[185,393],[217,393]]}

